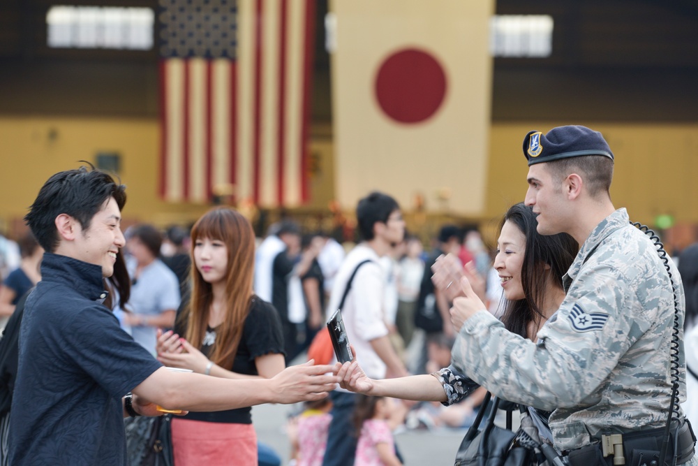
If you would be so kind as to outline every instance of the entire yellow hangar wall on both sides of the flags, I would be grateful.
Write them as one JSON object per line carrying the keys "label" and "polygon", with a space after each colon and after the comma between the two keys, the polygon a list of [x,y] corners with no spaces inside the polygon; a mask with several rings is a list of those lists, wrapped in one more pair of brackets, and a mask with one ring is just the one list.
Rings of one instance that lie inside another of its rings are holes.
{"label": "entire yellow hangar wall on both sides of the flags", "polygon": [[[611,196],[628,207],[631,219],[653,224],[671,214],[677,224],[698,224],[698,124],[618,124],[579,122],[604,133],[616,156]],[[500,217],[526,193],[521,141],[527,131],[548,131],[565,122],[493,124],[489,135],[486,209],[475,221]],[[158,196],[159,136],[154,119],[73,119],[0,117],[0,231],[21,231],[22,217],[41,184],[80,160],[95,163],[100,152],[118,153],[122,182],[128,186],[127,224],[164,226],[193,221],[209,206],[170,204]],[[408,163],[395,154],[395,163]],[[308,206],[324,210],[334,197],[334,157],[330,136],[311,141],[311,194]],[[448,167],[440,169],[447,170]],[[468,174],[463,173],[463,182]],[[438,210],[436,205],[427,209]],[[412,206],[403,206],[410,212]],[[457,217],[458,212],[440,212]]]}

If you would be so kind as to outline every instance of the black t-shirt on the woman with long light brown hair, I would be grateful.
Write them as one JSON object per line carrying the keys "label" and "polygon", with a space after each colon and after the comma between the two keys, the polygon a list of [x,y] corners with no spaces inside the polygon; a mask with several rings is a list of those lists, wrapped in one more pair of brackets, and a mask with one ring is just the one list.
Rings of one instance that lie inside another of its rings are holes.
{"label": "black t-shirt on the woman with long light brown hair", "polygon": [[[179,335],[186,334],[184,326],[178,326],[176,330]],[[206,333],[204,344],[200,349],[203,354],[208,356],[216,341],[216,330],[209,327]],[[258,296],[253,296],[232,368],[225,368],[238,374],[258,375],[255,358],[265,356],[265,354],[284,354],[281,321],[271,304],[261,300]],[[251,424],[252,408],[228,409],[218,412],[189,412],[184,418],[195,421]]]}

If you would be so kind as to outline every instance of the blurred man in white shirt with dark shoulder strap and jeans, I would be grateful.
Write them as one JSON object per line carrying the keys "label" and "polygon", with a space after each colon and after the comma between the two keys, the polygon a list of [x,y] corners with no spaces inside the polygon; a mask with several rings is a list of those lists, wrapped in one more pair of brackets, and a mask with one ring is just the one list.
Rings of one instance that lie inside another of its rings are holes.
{"label": "blurred man in white shirt with dark shoulder strap and jeans", "polygon": [[[407,371],[392,347],[385,325],[383,293],[386,282],[379,260],[403,240],[405,221],[394,198],[380,192],[373,192],[359,201],[356,218],[364,241],[347,254],[339,268],[327,311],[331,314],[339,307],[350,286],[341,312],[359,364],[375,379],[402,377]],[[331,394],[332,422],[322,461],[324,466],[354,464],[357,437],[353,435],[351,416],[356,396],[340,390]]]}

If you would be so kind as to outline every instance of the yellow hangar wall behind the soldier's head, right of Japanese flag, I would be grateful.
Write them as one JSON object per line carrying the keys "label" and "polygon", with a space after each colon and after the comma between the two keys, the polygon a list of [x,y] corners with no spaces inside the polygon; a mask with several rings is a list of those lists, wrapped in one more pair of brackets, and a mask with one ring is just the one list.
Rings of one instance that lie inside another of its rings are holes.
{"label": "yellow hangar wall behind the soldier's head, right of Japanese flag", "polygon": [[[487,214],[523,201],[528,167],[523,136],[569,122],[495,124],[490,135]],[[652,225],[659,214],[677,223],[698,223],[698,124],[575,122],[601,131],[615,156],[611,199],[627,207],[630,219]]]}

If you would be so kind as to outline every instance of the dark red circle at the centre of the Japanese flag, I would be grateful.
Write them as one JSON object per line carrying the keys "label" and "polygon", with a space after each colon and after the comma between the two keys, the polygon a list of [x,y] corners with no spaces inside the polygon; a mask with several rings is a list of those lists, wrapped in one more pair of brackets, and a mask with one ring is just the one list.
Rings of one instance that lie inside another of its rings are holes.
{"label": "dark red circle at the centre of the Japanese flag", "polygon": [[438,110],[445,95],[443,67],[422,50],[399,50],[378,69],[376,99],[385,115],[397,122],[423,122]]}

